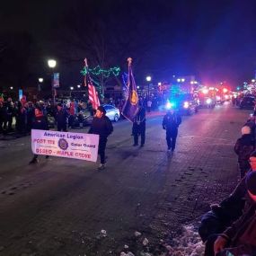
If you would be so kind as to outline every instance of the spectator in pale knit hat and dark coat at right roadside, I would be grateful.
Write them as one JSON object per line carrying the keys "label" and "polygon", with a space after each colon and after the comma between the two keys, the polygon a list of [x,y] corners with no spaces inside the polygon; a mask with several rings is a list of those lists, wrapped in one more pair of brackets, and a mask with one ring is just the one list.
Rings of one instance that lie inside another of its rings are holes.
{"label": "spectator in pale knit hat and dark coat at right roadside", "polygon": [[250,155],[254,150],[254,141],[252,139],[251,128],[244,126],[241,130],[242,137],[238,138],[234,145],[234,152],[238,155],[238,164],[240,169],[241,179],[246,172],[251,168],[249,163]]}

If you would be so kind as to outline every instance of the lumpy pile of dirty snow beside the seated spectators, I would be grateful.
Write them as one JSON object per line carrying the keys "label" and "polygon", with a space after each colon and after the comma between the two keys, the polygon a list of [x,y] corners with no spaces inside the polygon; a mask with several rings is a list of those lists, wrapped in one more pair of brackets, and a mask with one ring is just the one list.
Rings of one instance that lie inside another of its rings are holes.
{"label": "lumpy pile of dirty snow beside the seated spectators", "polygon": [[[193,225],[183,227],[180,237],[173,239],[173,246],[169,247],[169,255],[172,256],[203,256],[205,246]],[[168,255],[168,254],[167,254]]]}

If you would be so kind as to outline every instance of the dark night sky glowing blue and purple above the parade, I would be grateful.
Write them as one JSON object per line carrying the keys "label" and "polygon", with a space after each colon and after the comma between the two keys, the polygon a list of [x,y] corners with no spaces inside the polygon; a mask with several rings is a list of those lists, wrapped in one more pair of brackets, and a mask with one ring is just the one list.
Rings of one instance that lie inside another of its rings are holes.
{"label": "dark night sky glowing blue and purple above the parade", "polygon": [[[84,40],[98,33],[106,45],[124,42],[109,51],[109,65],[126,68],[126,57],[133,57],[137,81],[147,74],[155,80],[197,75],[204,83],[236,85],[254,77],[255,13],[256,2],[246,0],[8,1],[1,4],[0,31],[29,32],[42,49],[41,63],[59,58],[66,84],[79,83],[79,66],[90,51],[77,49],[76,62],[62,62],[62,36],[73,39],[75,28]],[[100,31],[93,29],[98,21],[104,23]]]}

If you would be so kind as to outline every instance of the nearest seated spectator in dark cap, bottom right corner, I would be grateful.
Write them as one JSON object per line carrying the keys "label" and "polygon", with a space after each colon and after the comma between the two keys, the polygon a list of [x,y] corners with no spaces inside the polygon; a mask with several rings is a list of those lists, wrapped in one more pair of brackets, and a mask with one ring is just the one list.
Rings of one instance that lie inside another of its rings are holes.
{"label": "nearest seated spectator in dark cap, bottom right corner", "polygon": [[225,232],[217,235],[214,252],[208,250],[206,256],[256,255],[256,172],[246,175],[245,187],[252,199],[251,207]]}

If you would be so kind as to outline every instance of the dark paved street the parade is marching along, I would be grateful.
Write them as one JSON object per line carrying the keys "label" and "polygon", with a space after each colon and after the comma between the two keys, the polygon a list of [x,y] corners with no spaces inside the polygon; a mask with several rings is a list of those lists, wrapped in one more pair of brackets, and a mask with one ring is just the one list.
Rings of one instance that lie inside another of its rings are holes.
{"label": "dark paved street the parade is marching along", "polygon": [[30,137],[0,140],[0,255],[119,255],[124,244],[135,253],[135,231],[153,245],[197,224],[237,183],[233,147],[249,113],[225,104],[183,117],[171,155],[163,115],[147,119],[144,148],[119,121],[102,172],[66,158],[29,165]]}

